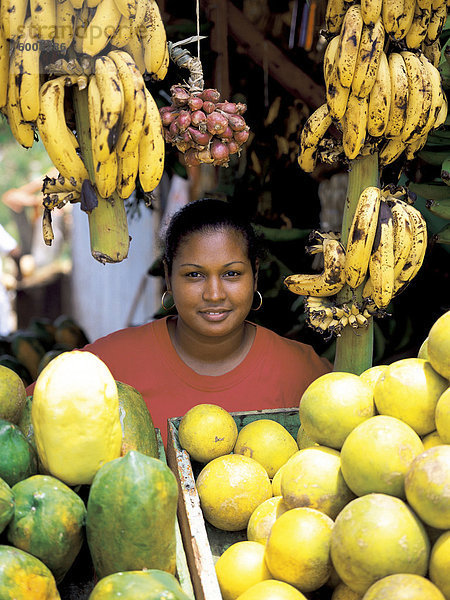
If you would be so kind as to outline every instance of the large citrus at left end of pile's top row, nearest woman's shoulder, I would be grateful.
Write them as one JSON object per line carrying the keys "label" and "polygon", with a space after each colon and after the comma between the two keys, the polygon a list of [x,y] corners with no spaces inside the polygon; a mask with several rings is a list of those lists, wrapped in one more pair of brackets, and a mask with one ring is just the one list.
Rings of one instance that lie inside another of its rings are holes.
{"label": "large citrus at left end of pile's top row, nearest woman's shoulder", "polygon": [[312,440],[339,450],[350,431],[375,414],[372,389],[353,373],[326,373],[306,388],[299,414]]}

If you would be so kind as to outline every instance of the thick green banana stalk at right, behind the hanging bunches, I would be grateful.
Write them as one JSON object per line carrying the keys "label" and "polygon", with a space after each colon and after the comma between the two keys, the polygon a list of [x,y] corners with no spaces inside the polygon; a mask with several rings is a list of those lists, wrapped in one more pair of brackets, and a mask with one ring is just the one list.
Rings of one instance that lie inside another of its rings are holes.
{"label": "thick green banana stalk at right, behind the hanging bunches", "polygon": [[[344,247],[347,245],[350,226],[355,213],[361,192],[369,185],[377,186],[378,183],[378,154],[372,154],[351,161],[347,201],[342,217],[341,241]],[[356,291],[356,300],[362,299],[364,283]],[[338,293],[338,303],[352,302],[352,291],[348,285],[344,285]],[[345,371],[360,375],[372,366],[373,358],[373,319],[369,320],[367,328],[354,329],[344,327],[341,335],[336,340],[336,356],[334,360],[335,371]]]}

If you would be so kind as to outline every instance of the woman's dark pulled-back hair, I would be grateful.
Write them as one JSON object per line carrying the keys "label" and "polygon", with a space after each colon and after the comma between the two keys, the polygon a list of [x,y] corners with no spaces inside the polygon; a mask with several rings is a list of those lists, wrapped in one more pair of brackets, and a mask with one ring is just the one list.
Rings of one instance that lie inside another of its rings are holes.
{"label": "woman's dark pulled-back hair", "polygon": [[179,247],[192,233],[233,229],[239,232],[247,244],[247,253],[256,272],[257,259],[262,246],[252,225],[234,206],[216,198],[201,198],[186,204],[171,218],[165,236],[164,262],[169,275]]}

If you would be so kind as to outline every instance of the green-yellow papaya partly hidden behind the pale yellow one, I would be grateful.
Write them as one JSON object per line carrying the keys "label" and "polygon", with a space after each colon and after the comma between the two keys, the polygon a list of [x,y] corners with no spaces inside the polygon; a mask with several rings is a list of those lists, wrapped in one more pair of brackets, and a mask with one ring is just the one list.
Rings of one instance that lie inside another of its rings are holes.
{"label": "green-yellow papaya partly hidden behind the pale yellow one", "polygon": [[121,456],[137,450],[158,458],[158,441],[152,417],[142,395],[131,385],[116,381],[122,427]]}

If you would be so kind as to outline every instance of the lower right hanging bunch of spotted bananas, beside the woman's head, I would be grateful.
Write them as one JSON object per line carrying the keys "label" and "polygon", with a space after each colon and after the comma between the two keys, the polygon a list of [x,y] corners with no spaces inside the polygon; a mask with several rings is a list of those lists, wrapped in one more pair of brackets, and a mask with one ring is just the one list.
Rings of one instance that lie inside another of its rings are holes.
{"label": "lower right hanging bunch of spotted bananas, beside the woman's head", "polygon": [[[359,197],[345,249],[339,234],[313,232],[316,243],[308,251],[323,252],[322,273],[290,275],[284,281],[291,292],[306,296],[312,327],[336,334],[347,324],[364,327],[371,316],[383,315],[416,276],[425,256],[427,228],[413,201],[402,187],[370,186]],[[364,284],[362,303],[337,304],[331,298],[345,284],[353,294]]]}

